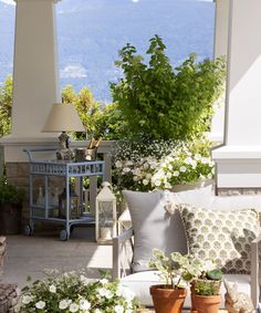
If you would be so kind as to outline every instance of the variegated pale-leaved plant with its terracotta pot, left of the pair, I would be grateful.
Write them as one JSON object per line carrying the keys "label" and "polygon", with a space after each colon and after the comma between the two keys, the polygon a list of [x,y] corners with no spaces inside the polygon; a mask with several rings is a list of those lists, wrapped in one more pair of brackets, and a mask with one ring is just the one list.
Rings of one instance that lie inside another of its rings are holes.
{"label": "variegated pale-leaved plant with its terracotta pot, left of the pair", "polygon": [[165,284],[152,285],[149,291],[156,313],[180,313],[187,295],[187,283],[198,275],[188,255],[179,252],[167,257],[158,249],[153,250],[149,267],[159,271]]}

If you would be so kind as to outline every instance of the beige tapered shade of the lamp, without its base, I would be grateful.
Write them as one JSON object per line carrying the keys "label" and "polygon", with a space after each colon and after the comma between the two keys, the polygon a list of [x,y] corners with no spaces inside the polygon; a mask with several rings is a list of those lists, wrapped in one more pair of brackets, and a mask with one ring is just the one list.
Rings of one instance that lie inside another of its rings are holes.
{"label": "beige tapered shade of the lamp, without its base", "polygon": [[54,103],[42,128],[44,133],[85,132],[77,112],[71,103]]}

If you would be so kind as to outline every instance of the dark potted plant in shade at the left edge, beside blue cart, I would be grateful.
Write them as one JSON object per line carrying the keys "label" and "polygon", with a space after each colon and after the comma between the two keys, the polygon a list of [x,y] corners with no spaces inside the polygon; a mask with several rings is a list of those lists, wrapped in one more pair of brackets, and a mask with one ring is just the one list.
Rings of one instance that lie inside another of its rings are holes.
{"label": "dark potted plant in shade at the left edge, beside blue cart", "polygon": [[0,233],[15,234],[21,231],[21,210],[23,190],[7,181],[0,180]]}

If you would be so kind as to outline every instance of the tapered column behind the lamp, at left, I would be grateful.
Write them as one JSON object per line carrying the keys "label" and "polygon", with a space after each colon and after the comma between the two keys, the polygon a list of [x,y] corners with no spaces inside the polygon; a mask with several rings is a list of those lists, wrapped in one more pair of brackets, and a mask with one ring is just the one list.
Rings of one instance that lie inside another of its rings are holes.
{"label": "tapered column behind the lamp, at left", "polygon": [[7,161],[22,160],[21,144],[45,144],[54,135],[42,126],[60,101],[56,58],[56,0],[15,0],[13,104],[11,135],[1,139]]}

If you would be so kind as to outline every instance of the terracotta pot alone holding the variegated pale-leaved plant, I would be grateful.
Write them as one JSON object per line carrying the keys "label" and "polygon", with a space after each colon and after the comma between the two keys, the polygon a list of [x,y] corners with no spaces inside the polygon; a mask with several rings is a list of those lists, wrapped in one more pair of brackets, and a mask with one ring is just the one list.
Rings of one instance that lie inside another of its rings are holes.
{"label": "terracotta pot alone holding the variegated pale-leaved plant", "polygon": [[149,291],[156,313],[181,313],[187,295],[186,289],[152,285]]}

